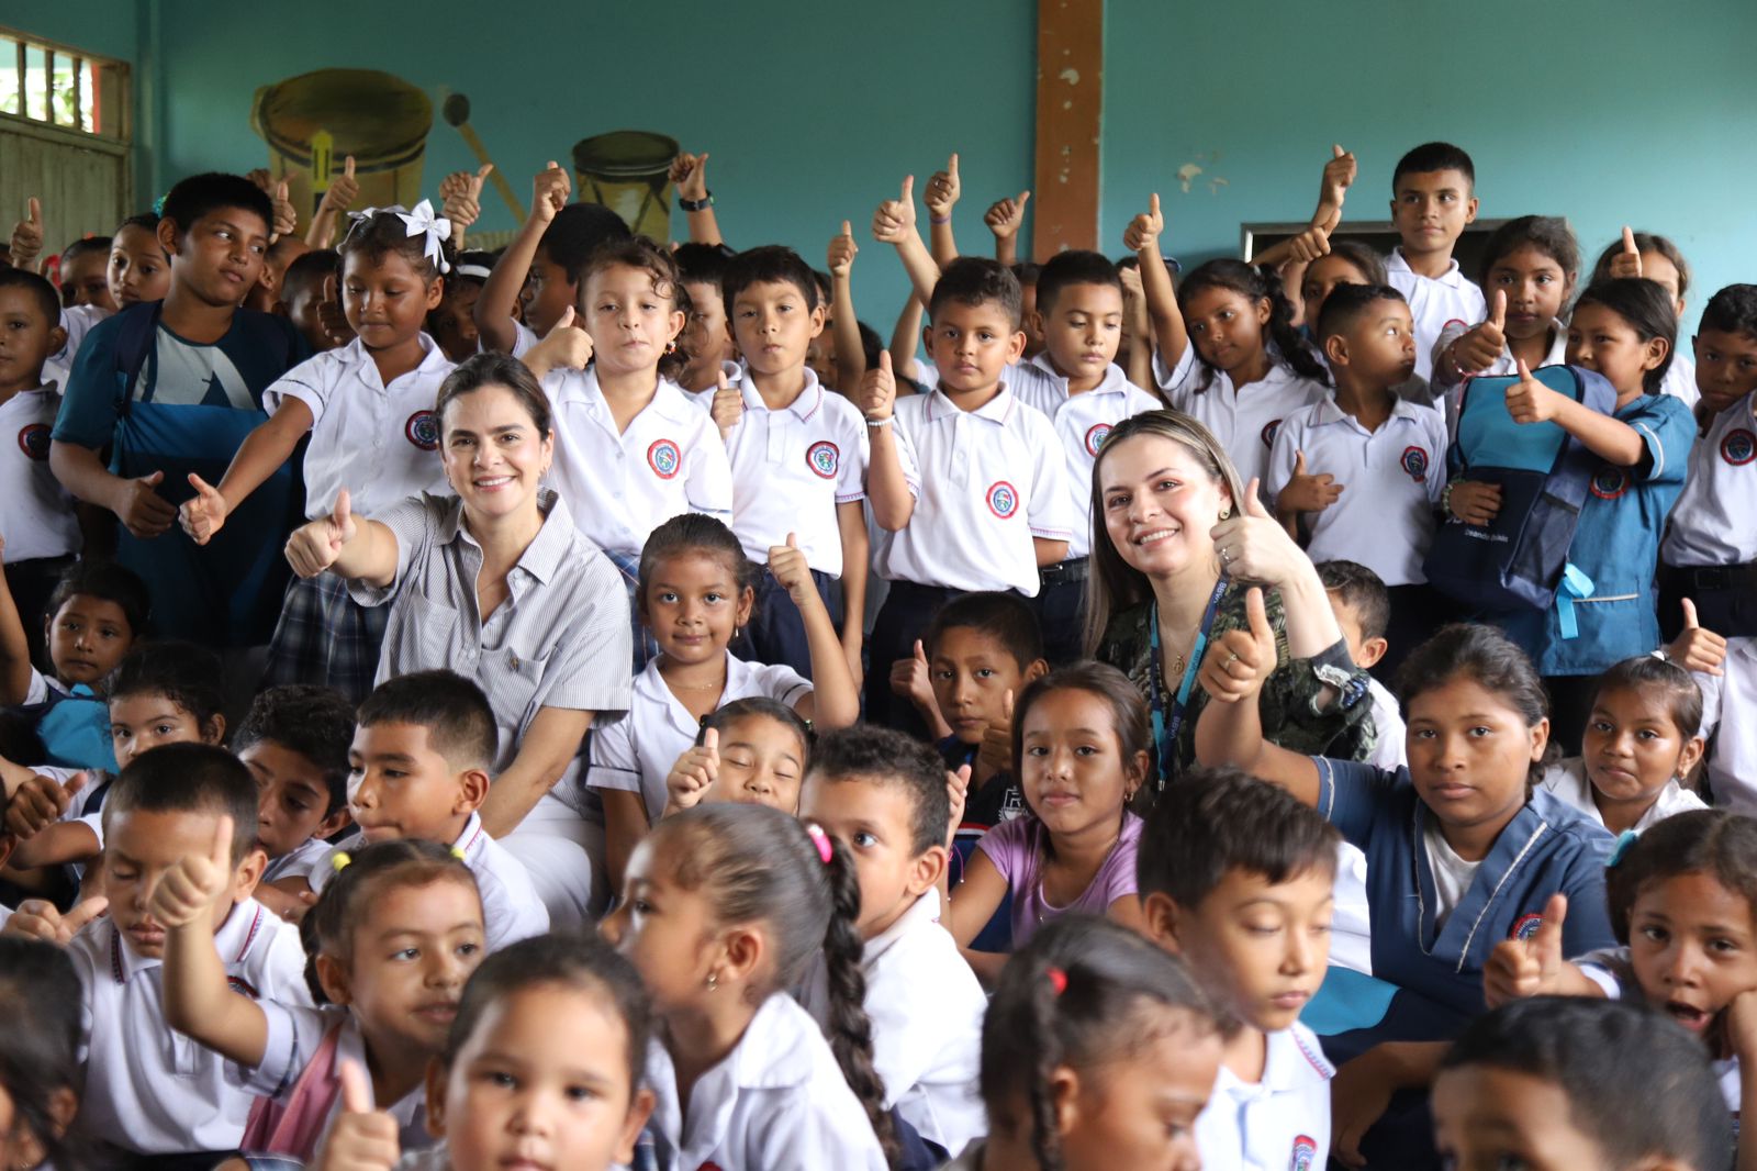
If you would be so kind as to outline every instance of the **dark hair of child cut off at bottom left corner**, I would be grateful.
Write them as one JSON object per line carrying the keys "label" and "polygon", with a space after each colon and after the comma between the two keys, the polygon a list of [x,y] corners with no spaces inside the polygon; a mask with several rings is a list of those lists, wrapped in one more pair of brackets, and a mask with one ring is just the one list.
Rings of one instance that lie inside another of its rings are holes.
{"label": "dark hair of child cut off at bottom left corner", "polygon": [[0,935],[0,1094],[12,1101],[12,1127],[42,1146],[44,1164],[84,1166],[77,1127],[58,1134],[54,1095],[79,1094],[79,972],[67,951],[40,939]]}

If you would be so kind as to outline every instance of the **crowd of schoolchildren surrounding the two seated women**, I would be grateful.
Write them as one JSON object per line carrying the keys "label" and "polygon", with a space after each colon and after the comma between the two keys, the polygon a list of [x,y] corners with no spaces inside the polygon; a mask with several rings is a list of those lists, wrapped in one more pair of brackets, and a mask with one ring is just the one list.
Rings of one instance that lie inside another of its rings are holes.
{"label": "crowd of schoolchildren surrounding the two seated women", "polygon": [[[1472,281],[1464,151],[1399,162],[1390,257],[1339,232],[1355,174],[1335,148],[1305,230],[1179,273],[1158,197],[1121,264],[1016,262],[1028,195],[958,255],[952,156],[926,241],[912,179],[873,215],[889,346],[850,225],[828,274],[734,253],[706,155],[676,246],[555,165],[497,255],[462,248],[485,171],[439,213],[337,179],[306,237],[209,174],[56,285],[33,200],[0,1164],[1757,1167],[1757,287],[1683,348],[1671,241],[1583,274],[1522,216]],[[448,491],[478,352],[541,380],[548,482],[627,589],[633,698],[564,796],[596,923],[485,828],[485,687],[387,677],[385,607],[283,554]],[[1427,578],[1515,506],[1458,440],[1485,389],[1595,461],[1550,608]],[[1191,652],[1170,782],[1158,696],[1089,659],[1095,464],[1167,410],[1318,563],[1374,679],[1316,702],[1370,707],[1369,760],[1277,746],[1254,593]]]}

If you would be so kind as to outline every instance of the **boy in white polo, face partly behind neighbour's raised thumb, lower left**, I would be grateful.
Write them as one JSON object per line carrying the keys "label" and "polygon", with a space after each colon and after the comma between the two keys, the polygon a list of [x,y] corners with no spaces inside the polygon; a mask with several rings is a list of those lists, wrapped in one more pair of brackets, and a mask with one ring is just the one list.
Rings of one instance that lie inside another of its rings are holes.
{"label": "boy in white polo, face partly behind neighbour's raised thumb, lower left", "polygon": [[227,1058],[170,1032],[165,1015],[167,925],[148,904],[184,858],[218,855],[218,893],[199,923],[214,937],[225,981],[260,1000],[311,1004],[299,930],[251,898],[265,862],[255,818],[249,770],[204,744],[142,753],[104,802],[109,918],[81,928],[69,953],[84,988],[81,1124],[121,1159],[214,1152],[218,1162],[220,1152],[237,1150],[251,1109],[251,1094],[227,1076]]}

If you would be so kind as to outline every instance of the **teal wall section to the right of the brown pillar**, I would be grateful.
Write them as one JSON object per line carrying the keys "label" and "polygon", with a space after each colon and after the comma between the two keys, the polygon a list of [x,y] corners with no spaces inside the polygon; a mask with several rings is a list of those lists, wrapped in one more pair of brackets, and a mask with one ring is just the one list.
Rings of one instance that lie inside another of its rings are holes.
{"label": "teal wall section to the right of the brown pillar", "polygon": [[1752,0],[1109,0],[1103,246],[1158,190],[1167,251],[1237,255],[1242,222],[1311,215],[1332,142],[1360,158],[1344,218],[1383,220],[1399,155],[1450,139],[1483,216],[1565,215],[1587,264],[1623,223],[1678,241],[1694,325],[1757,280],[1753,46]]}

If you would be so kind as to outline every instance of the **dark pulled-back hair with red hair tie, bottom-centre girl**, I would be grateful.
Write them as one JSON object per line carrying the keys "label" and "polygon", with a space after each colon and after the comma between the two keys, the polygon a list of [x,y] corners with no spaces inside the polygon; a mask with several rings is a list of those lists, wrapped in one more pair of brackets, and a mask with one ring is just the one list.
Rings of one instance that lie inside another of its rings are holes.
{"label": "dark pulled-back hair with red hair tie, bottom-centre girl", "polygon": [[1182,960],[1110,920],[1056,916],[1007,960],[982,1018],[982,1104],[993,1129],[1030,1125],[1038,1171],[1059,1171],[1056,1069],[1089,1071],[1181,1029],[1219,1032]]}

